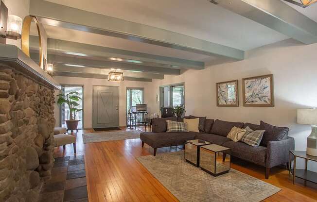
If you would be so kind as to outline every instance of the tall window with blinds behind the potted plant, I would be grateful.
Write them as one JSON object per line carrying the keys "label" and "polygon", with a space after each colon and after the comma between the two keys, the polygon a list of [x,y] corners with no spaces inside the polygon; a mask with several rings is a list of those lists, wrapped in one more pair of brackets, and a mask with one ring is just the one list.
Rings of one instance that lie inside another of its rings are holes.
{"label": "tall window with blinds behind the potted plant", "polygon": [[[79,105],[77,106],[78,109],[84,109],[83,108],[83,100],[84,100],[84,96],[83,96],[83,86],[80,85],[63,85],[62,86],[62,94],[68,94],[72,91],[78,92],[78,96],[82,99],[80,101],[78,101]],[[63,103],[62,107],[61,107],[61,125],[62,127],[66,127],[66,122],[65,120],[68,120],[70,118],[70,109],[68,107],[67,104]],[[77,113],[76,115],[76,119],[79,120],[78,123],[78,129],[82,129],[83,128],[83,111],[80,111]]]}

